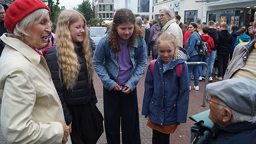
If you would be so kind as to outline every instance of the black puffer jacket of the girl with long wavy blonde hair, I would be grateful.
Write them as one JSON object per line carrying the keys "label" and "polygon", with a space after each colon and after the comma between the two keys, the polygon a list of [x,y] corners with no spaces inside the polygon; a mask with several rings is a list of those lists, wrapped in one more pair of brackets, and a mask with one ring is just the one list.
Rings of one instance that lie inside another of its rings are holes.
{"label": "black puffer jacket of the girl with long wavy blonde hair", "polygon": [[[45,56],[47,65],[51,71],[53,83],[61,100],[66,124],[72,122],[72,116],[70,115],[67,106],[86,104],[90,101],[95,102],[95,104],[97,103],[92,79],[88,79],[87,77],[86,59],[84,58],[81,46],[78,46],[77,44],[77,46],[75,46],[75,51],[77,52],[78,61],[80,63],[80,71],[77,84],[75,84],[73,90],[67,90],[65,84],[61,83],[63,82],[63,77],[62,73],[59,73],[56,46],[52,46]],[[61,74],[61,79],[59,74]]]}

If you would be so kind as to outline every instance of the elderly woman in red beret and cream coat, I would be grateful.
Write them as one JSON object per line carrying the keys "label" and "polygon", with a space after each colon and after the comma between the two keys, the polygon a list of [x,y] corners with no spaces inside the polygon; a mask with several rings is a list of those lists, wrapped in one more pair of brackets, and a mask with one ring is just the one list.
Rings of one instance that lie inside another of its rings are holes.
{"label": "elderly woman in red beret and cream coat", "polygon": [[0,58],[1,128],[8,143],[71,143],[59,96],[37,48],[51,33],[50,9],[17,0],[7,9]]}

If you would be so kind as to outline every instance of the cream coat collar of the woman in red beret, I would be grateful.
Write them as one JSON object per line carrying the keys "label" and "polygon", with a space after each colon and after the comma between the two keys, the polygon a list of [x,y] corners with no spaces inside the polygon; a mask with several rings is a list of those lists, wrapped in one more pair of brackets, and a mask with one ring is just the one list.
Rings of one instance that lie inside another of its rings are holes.
{"label": "cream coat collar of the woman in red beret", "polygon": [[6,34],[3,34],[0,38],[11,48],[23,54],[26,59],[28,59],[32,64],[38,65],[41,61],[41,56],[35,52],[31,47],[21,42],[21,40],[11,37],[6,37]]}

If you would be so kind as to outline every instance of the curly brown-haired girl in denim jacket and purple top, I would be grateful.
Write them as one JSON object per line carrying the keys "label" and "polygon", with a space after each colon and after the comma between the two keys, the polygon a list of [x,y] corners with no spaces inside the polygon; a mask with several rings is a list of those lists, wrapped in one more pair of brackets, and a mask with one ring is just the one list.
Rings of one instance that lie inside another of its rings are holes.
{"label": "curly brown-haired girl in denim jacket and purple top", "polygon": [[141,143],[136,86],[147,65],[147,46],[139,31],[132,11],[119,9],[93,55],[104,86],[104,123],[110,144],[120,143],[120,125],[123,143]]}

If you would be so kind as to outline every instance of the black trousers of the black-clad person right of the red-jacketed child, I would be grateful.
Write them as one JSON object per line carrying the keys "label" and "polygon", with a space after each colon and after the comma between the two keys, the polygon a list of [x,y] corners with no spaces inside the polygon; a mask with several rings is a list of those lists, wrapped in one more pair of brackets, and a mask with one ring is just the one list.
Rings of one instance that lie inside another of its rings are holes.
{"label": "black trousers of the black-clad person right of the red-jacketed child", "polygon": [[229,59],[229,53],[228,54],[219,54],[218,53],[218,77],[223,77],[228,64]]}

